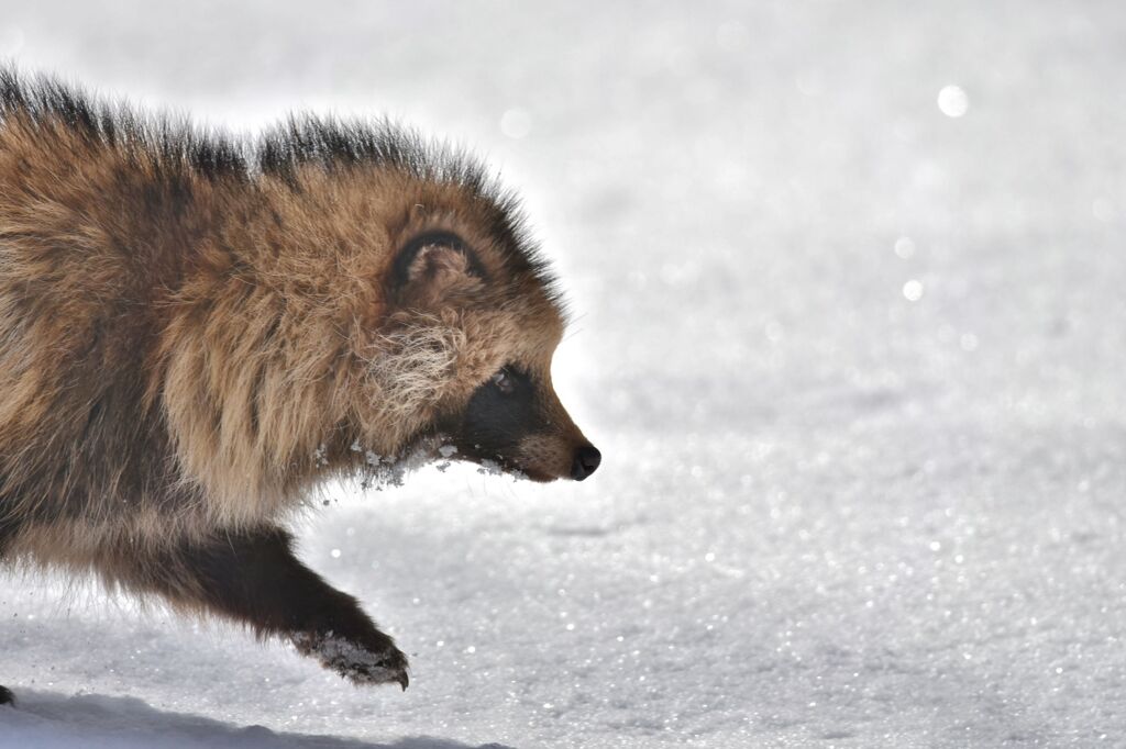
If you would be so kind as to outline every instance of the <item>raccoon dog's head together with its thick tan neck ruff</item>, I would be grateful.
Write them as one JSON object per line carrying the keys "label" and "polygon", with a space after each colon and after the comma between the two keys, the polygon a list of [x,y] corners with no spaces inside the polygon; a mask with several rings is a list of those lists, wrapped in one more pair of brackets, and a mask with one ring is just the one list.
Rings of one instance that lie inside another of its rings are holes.
{"label": "raccoon dog's head together with its thick tan neck ruff", "polygon": [[198,210],[177,211],[203,228],[177,231],[205,237],[146,397],[218,512],[250,522],[438,437],[457,449],[445,457],[540,481],[598,468],[552,388],[551,274],[480,164],[394,126],[316,117],[263,135],[252,168],[233,146],[193,147],[215,174],[193,182]]}

